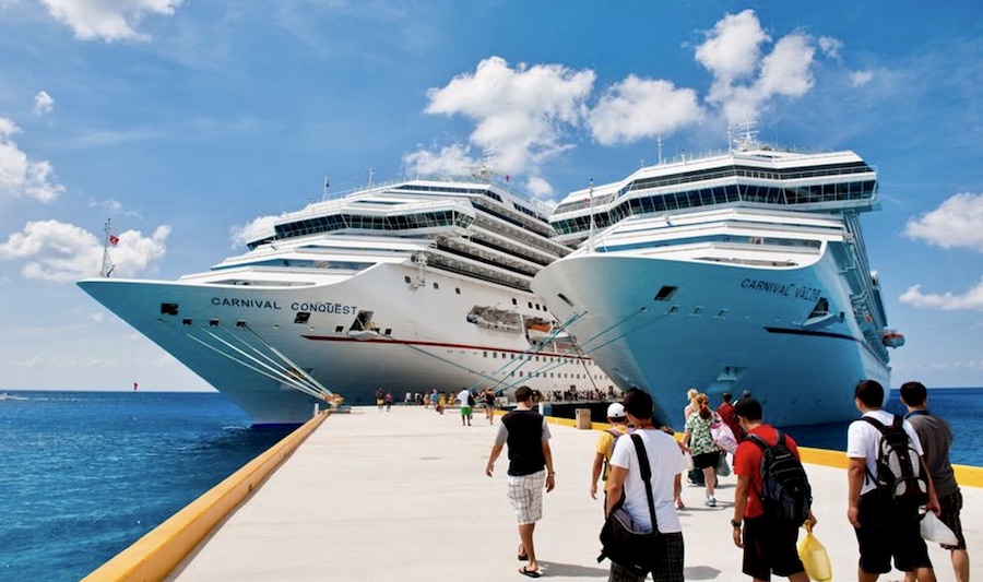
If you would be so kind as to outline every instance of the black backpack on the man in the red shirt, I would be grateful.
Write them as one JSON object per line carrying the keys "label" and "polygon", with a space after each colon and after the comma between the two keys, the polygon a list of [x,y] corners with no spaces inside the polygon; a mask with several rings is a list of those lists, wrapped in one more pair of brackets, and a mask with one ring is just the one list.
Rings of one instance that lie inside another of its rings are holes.
{"label": "black backpack on the man in the red shirt", "polygon": [[757,444],[763,453],[758,498],[769,519],[798,526],[809,516],[813,488],[802,462],[785,444],[784,432],[778,428],[774,432],[774,444],[768,444],[757,435],[747,436],[747,440]]}

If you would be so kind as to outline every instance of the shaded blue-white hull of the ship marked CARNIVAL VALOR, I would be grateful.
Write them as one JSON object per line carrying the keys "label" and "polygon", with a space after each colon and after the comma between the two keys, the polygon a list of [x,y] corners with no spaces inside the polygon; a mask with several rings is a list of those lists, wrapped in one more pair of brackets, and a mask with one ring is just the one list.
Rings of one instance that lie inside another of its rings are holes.
{"label": "shaded blue-white hull of the ship marked CARNIVAL VALOR", "polygon": [[[746,390],[768,421],[809,425],[856,417],[862,379],[889,385],[829,253],[787,269],[584,253],[545,268],[533,290],[619,388],[649,391],[677,429],[689,388],[713,403]],[[805,324],[817,297],[843,313]]]}

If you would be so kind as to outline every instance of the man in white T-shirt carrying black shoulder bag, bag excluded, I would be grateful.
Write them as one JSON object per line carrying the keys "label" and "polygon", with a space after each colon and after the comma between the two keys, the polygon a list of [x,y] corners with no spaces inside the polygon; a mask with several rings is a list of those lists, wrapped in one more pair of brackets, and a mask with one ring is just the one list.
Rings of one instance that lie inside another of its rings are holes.
{"label": "man in white T-shirt carrying black shoulder bag, bag excluded", "polygon": [[[675,479],[686,471],[686,462],[676,439],[652,425],[654,408],[648,392],[632,388],[625,394],[625,413],[640,435],[652,470],[652,501],[655,507],[655,527],[660,547],[654,548],[658,563],[651,568],[655,582],[683,582],[683,527],[674,502]],[[611,474],[607,476],[607,512],[618,506],[624,495],[623,508],[631,521],[643,532],[652,531],[649,515],[649,497],[638,454],[630,438],[619,438],[611,455]],[[638,571],[612,562],[609,582],[642,582],[648,571]]]}

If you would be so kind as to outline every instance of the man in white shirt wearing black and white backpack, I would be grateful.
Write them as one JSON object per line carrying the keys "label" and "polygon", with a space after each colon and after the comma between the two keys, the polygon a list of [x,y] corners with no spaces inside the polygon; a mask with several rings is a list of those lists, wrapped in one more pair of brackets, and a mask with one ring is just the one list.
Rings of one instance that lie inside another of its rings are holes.
{"label": "man in white shirt wearing black and white backpack", "polygon": [[919,581],[935,581],[928,548],[919,531],[924,506],[938,513],[938,500],[911,424],[883,411],[884,387],[863,380],[854,390],[862,413],[846,432],[846,519],[860,546],[857,580],[874,582],[895,567]]}

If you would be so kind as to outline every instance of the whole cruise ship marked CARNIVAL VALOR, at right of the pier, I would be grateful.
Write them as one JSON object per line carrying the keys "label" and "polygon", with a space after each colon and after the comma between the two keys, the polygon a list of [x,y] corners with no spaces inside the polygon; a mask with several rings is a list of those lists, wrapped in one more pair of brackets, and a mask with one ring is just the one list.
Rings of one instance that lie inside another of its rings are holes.
{"label": "whole cruise ship marked CARNIVAL VALOR, at right of the pier", "polygon": [[550,216],[576,252],[533,292],[621,389],[648,390],[679,428],[686,391],[750,392],[778,425],[857,415],[889,385],[888,328],[858,216],[877,174],[853,152],[797,153],[748,134],[731,151],[659,163],[567,195]]}

